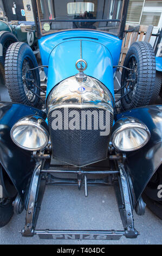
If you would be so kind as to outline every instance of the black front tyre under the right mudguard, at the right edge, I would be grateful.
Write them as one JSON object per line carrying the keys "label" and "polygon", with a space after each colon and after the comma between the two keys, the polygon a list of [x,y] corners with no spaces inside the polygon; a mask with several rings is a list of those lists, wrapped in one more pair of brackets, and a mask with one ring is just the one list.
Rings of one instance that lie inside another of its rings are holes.
{"label": "black front tyre under the right mudguard, at the right edge", "polygon": [[[159,179],[157,180],[157,184],[152,182],[148,182],[148,185],[145,188],[144,193],[142,194],[142,198],[146,203],[148,209],[150,209],[153,214],[162,220],[162,198],[158,198],[158,185],[161,185],[162,180],[162,166],[157,170],[159,175]],[[152,183],[151,183],[152,182]]]}

